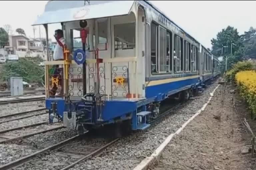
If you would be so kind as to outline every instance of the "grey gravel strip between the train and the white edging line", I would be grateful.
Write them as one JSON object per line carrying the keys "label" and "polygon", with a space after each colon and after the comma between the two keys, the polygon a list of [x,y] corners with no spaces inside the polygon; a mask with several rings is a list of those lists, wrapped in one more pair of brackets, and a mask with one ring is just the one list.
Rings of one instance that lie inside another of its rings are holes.
{"label": "grey gravel strip between the train and the white edging line", "polygon": [[89,161],[77,164],[71,170],[77,169],[118,169],[127,170],[135,168],[145,157],[150,156],[165,138],[178,130],[195,112],[197,112],[209,99],[210,92],[217,84],[212,84],[205,89],[199,98],[188,101],[178,107],[174,114],[170,114],[161,123],[151,128],[134,132],[110,146],[105,153]]}

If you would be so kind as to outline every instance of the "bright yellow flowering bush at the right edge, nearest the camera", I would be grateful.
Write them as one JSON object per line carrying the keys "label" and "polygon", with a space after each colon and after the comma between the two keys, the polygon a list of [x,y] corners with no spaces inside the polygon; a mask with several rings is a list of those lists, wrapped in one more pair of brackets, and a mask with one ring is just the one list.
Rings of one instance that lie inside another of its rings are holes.
{"label": "bright yellow flowering bush at the right edge, nearest the camera", "polygon": [[241,96],[246,100],[249,109],[256,116],[256,72],[240,71],[235,76]]}

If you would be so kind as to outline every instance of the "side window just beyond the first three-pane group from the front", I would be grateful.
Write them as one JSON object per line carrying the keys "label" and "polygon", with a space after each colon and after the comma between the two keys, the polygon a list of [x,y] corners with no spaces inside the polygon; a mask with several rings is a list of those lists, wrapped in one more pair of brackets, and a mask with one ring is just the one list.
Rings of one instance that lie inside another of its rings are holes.
{"label": "side window just beyond the first three-pane group from the front", "polygon": [[174,37],[174,70],[176,73],[181,72],[181,38],[175,35]]}

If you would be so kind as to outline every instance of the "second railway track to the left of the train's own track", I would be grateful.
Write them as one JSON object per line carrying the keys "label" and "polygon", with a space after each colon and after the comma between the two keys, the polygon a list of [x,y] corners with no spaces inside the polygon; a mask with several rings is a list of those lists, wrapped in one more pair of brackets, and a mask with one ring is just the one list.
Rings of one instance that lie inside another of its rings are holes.
{"label": "second railway track to the left of the train's own track", "polygon": [[[34,113],[35,112],[35,113]],[[38,113],[39,112],[39,113]],[[49,113],[45,108],[0,116],[0,124]]]}

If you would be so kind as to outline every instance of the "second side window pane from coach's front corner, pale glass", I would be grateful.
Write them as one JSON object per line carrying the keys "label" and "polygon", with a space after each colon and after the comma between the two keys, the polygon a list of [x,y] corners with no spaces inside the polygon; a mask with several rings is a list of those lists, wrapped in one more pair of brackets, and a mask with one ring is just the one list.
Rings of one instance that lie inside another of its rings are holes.
{"label": "second side window pane from coach's front corner, pale glass", "polygon": [[166,72],[166,29],[164,29],[161,26],[158,26],[159,28],[159,53],[158,53],[158,59],[159,59],[159,73]]}

